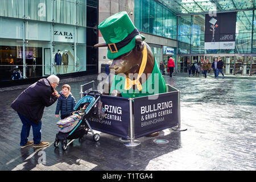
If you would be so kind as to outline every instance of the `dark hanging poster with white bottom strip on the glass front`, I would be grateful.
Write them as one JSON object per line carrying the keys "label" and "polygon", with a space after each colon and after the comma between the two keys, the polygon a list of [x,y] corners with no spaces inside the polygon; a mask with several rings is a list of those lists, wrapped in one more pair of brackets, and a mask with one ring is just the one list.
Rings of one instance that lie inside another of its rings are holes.
{"label": "dark hanging poster with white bottom strip on the glass front", "polygon": [[204,49],[234,49],[236,43],[236,12],[205,15]]}

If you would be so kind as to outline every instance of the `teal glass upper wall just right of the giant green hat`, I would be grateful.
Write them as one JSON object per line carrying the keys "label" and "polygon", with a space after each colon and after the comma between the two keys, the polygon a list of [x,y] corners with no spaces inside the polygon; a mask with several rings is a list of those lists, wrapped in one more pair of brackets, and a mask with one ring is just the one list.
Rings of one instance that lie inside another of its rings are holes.
{"label": "teal glass upper wall just right of the giant green hat", "polygon": [[176,14],[155,0],[134,1],[134,24],[139,31],[177,39]]}

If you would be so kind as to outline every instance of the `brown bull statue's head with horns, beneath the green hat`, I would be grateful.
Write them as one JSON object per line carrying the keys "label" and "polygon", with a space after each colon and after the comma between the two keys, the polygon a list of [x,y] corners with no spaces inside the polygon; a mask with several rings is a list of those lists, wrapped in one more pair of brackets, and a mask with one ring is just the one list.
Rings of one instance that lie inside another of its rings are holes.
{"label": "brown bull statue's head with horns, beneath the green hat", "polygon": [[[94,45],[94,47],[106,47],[106,43],[100,43]],[[127,52],[113,60],[112,65],[110,65],[110,70],[114,69],[115,75],[118,73],[125,73],[128,75],[129,73],[138,73],[139,67],[141,67],[142,63],[142,51],[144,44],[142,42],[141,36],[137,36],[135,38],[135,47],[131,49],[130,52]]]}

